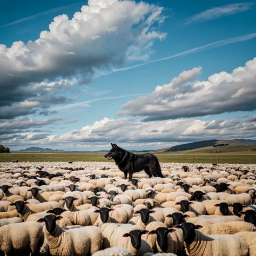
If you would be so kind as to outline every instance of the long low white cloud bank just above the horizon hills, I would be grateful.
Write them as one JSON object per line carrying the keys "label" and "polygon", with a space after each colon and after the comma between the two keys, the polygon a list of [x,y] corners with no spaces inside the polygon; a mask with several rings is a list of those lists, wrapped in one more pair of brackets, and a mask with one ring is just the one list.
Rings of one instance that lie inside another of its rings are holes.
{"label": "long low white cloud bank just above the horizon hills", "polygon": [[55,147],[62,145],[62,148],[79,144],[95,148],[97,144],[108,145],[114,142],[130,148],[132,145],[143,144],[144,148],[156,149],[173,143],[181,144],[206,139],[256,138],[256,123],[220,119],[213,121],[177,119],[142,123],[126,118],[116,120],[104,118],[80,130],[64,134],[46,136],[43,133],[42,138],[39,138],[40,134],[31,132],[13,135],[10,138],[5,136],[5,144],[15,146],[40,144]]}

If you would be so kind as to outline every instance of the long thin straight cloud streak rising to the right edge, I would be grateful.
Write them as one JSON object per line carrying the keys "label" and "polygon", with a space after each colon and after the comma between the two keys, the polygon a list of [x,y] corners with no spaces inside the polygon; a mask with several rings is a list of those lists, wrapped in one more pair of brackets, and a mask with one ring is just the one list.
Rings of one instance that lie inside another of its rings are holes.
{"label": "long thin straight cloud streak rising to the right edge", "polygon": [[192,53],[197,53],[197,52],[201,52],[201,51],[210,50],[210,49],[213,49],[213,48],[218,48],[220,46],[224,46],[224,45],[227,45],[227,44],[234,44],[234,43],[244,42],[244,41],[251,40],[251,39],[254,39],[254,38],[256,38],[256,33],[251,33],[251,34],[244,35],[244,36],[239,36],[239,37],[228,38],[228,39],[225,39],[225,40],[220,40],[220,41],[217,41],[217,42],[214,42],[214,43],[210,43],[210,44],[206,44],[206,45],[203,45],[203,46],[200,46],[200,47],[197,47],[197,48],[193,48],[193,49],[190,49],[190,50],[187,50],[187,51],[183,51],[183,52],[180,52],[176,55],[172,55],[172,56],[169,56],[169,57],[151,60],[150,62],[144,62],[142,64],[129,66],[127,68],[114,69],[110,73],[107,73],[107,74],[105,73],[105,75],[110,75],[111,73],[114,73],[114,72],[135,69],[135,68],[138,68],[139,66],[145,66],[147,64],[151,64],[151,63],[155,63],[155,62],[161,62],[162,60],[166,60],[166,59],[172,59],[172,58],[176,58],[176,57],[180,57],[180,56],[191,55]]}

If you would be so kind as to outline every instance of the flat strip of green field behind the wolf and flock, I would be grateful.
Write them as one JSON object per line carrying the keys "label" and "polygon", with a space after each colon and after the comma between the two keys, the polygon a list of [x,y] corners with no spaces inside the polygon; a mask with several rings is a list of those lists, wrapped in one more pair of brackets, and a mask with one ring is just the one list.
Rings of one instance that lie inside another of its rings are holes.
{"label": "flat strip of green field behind the wolf and flock", "polygon": [[[256,154],[157,154],[165,163],[256,164]],[[1,153],[0,162],[108,161],[104,153]],[[113,160],[112,160],[113,161]]]}

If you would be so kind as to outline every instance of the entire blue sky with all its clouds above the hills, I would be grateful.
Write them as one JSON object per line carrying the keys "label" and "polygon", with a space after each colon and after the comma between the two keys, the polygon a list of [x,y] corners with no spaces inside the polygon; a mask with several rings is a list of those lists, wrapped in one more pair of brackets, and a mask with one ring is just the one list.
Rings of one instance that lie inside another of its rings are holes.
{"label": "entire blue sky with all its clouds above the hills", "polygon": [[255,24],[254,1],[5,2],[0,141],[96,150],[256,138]]}

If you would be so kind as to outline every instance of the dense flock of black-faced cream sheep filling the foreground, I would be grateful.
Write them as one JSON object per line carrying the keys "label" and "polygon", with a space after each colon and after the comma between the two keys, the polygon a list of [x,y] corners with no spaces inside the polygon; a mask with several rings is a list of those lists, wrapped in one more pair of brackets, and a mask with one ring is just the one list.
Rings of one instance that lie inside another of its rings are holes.
{"label": "dense flock of black-faced cream sheep filling the foreground", "polygon": [[256,256],[256,165],[161,170],[124,180],[113,163],[1,163],[1,253]]}

